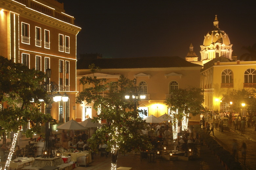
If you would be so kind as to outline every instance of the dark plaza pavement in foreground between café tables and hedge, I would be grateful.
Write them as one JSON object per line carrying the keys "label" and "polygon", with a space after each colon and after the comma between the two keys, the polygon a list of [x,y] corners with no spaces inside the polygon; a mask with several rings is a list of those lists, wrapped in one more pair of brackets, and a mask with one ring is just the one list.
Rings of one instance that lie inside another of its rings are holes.
{"label": "dark plaza pavement in foreground between caf\u00e9 tables and hedge", "polygon": [[[174,143],[177,145],[177,142]],[[173,145],[169,145],[168,150],[173,150]],[[117,158],[117,168],[118,167],[132,167],[133,170],[144,170],[144,169],[154,169],[154,170],[167,170],[167,169],[196,169],[196,170],[224,170],[224,166],[219,162],[219,160],[212,154],[212,152],[206,147],[202,147],[202,152],[197,160],[189,161],[168,161],[165,159],[157,159],[154,162],[148,162],[147,160],[140,160],[140,155],[138,153],[137,157],[134,159],[134,153],[128,153],[128,156],[122,156],[121,153]],[[111,158],[100,157],[100,154],[94,157],[94,160],[88,167],[87,170],[110,170]],[[75,167],[74,170],[84,170],[82,166]]]}

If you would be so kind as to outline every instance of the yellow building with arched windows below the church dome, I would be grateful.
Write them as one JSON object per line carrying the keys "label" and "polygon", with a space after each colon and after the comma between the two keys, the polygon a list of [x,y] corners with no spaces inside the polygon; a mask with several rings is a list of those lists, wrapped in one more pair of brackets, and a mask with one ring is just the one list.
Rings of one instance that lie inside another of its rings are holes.
{"label": "yellow building with arched windows below the church dome", "polygon": [[213,110],[230,110],[230,101],[223,94],[233,89],[256,87],[256,61],[232,62],[218,57],[204,64],[200,86],[204,89],[204,106]]}

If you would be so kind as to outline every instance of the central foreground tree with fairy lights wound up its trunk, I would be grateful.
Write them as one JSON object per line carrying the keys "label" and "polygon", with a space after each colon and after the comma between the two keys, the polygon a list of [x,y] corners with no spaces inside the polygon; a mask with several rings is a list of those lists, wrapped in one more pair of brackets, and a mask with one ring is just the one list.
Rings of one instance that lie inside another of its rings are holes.
{"label": "central foreground tree with fairy lights wound up its trunk", "polygon": [[[93,74],[100,70],[94,64],[89,69]],[[130,110],[133,109],[134,101],[124,99],[126,92],[134,88],[131,80],[122,75],[117,82],[107,83],[107,79],[93,76],[82,77],[80,83],[91,84],[92,87],[79,94],[77,103],[84,100],[87,103],[94,102],[94,109],[97,111],[94,121],[107,120],[107,125],[97,129],[88,142],[94,151],[98,150],[98,144],[108,145],[107,151],[112,153],[111,169],[116,169],[119,151],[130,152],[135,149],[137,152],[151,147],[147,137],[139,133],[139,130],[146,128],[145,121],[138,117],[138,110]],[[103,97],[103,93],[107,94],[107,97]]]}

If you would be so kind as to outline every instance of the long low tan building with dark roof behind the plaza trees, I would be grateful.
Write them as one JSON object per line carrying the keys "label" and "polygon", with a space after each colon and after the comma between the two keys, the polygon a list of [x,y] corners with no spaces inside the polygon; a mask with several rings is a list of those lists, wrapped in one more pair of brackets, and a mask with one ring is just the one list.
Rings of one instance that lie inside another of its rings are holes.
{"label": "long low tan building with dark roof behind the plaza trees", "polygon": [[[159,117],[170,112],[163,101],[170,97],[171,89],[200,87],[202,66],[180,57],[102,58],[78,60],[76,82],[79,92],[90,87],[79,84],[79,79],[82,76],[92,76],[88,69],[92,63],[102,69],[95,74],[98,78],[117,81],[121,74],[131,80],[136,78],[136,85],[143,88],[143,94],[146,96],[144,100],[139,101],[138,107],[147,110],[148,116]],[[96,116],[93,103],[77,104],[76,108],[77,121]],[[190,121],[199,121],[199,116],[192,117]]]}

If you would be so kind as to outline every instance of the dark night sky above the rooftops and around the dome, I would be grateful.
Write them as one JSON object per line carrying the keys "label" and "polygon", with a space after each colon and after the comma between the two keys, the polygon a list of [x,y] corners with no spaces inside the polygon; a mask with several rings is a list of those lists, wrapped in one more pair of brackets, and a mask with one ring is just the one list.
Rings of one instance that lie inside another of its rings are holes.
{"label": "dark night sky above the rooftops and around the dome", "polygon": [[[190,43],[200,56],[204,35],[219,28],[233,44],[232,55],[256,43],[255,1],[144,1],[58,0],[82,28],[77,35],[79,53],[100,53],[105,58],[180,56]],[[251,4],[252,2],[253,4]]]}

